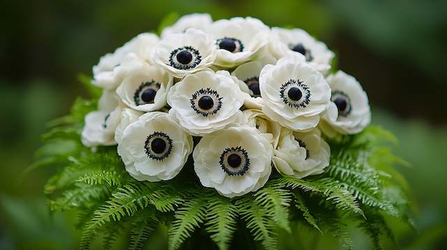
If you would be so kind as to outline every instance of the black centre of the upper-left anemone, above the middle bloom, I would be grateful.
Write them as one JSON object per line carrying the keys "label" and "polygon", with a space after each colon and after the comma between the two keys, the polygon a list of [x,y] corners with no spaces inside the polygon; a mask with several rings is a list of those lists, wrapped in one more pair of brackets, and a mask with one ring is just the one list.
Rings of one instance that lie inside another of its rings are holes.
{"label": "black centre of the upper-left anemone, above the middle bloom", "polygon": [[169,64],[177,70],[196,68],[200,61],[202,56],[191,46],[179,47],[170,52]]}

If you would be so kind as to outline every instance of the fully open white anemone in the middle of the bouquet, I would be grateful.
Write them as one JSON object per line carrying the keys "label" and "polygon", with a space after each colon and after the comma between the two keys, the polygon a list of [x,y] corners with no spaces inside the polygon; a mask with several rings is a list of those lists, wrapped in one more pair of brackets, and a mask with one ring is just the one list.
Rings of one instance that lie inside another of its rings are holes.
{"label": "fully open white anemone in the middle of the bouquet", "polygon": [[168,104],[179,124],[194,136],[203,136],[238,123],[245,95],[226,71],[187,75],[168,93]]}

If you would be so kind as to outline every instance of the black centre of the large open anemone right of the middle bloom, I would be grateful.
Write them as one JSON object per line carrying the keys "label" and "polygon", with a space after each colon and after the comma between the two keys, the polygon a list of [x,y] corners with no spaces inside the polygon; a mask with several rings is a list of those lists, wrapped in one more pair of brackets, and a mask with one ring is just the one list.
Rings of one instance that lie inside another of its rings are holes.
{"label": "black centre of the large open anemone right of the middle bloom", "polygon": [[305,108],[310,103],[310,89],[300,80],[290,79],[279,89],[284,104],[288,107],[298,109]]}

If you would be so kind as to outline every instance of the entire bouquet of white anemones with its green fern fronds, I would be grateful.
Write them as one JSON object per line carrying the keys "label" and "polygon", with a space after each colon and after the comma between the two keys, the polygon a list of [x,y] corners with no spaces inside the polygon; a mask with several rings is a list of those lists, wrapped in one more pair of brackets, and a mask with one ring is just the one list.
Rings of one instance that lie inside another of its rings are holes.
{"label": "entire bouquet of white anemones with its green fern fronds", "polygon": [[160,226],[170,249],[200,233],[219,249],[243,233],[274,249],[296,223],[351,249],[346,221],[380,247],[389,216],[411,222],[391,168],[402,161],[383,146],[395,139],[369,126],[367,94],[323,42],[252,17],[192,14],[160,31],[101,57],[81,77],[91,100],[54,120],[38,152],[64,166],[45,193],[78,212],[82,249],[126,231],[142,249]]}

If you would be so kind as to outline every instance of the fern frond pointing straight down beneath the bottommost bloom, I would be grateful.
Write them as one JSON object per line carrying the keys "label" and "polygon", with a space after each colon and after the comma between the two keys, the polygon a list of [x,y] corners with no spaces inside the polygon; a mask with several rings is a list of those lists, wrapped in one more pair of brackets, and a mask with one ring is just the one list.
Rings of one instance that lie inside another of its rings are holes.
{"label": "fern frond pointing straight down beneath the bottommost bloom", "polygon": [[219,249],[228,249],[233,233],[236,230],[237,207],[228,198],[217,197],[209,204],[206,231],[216,242]]}

